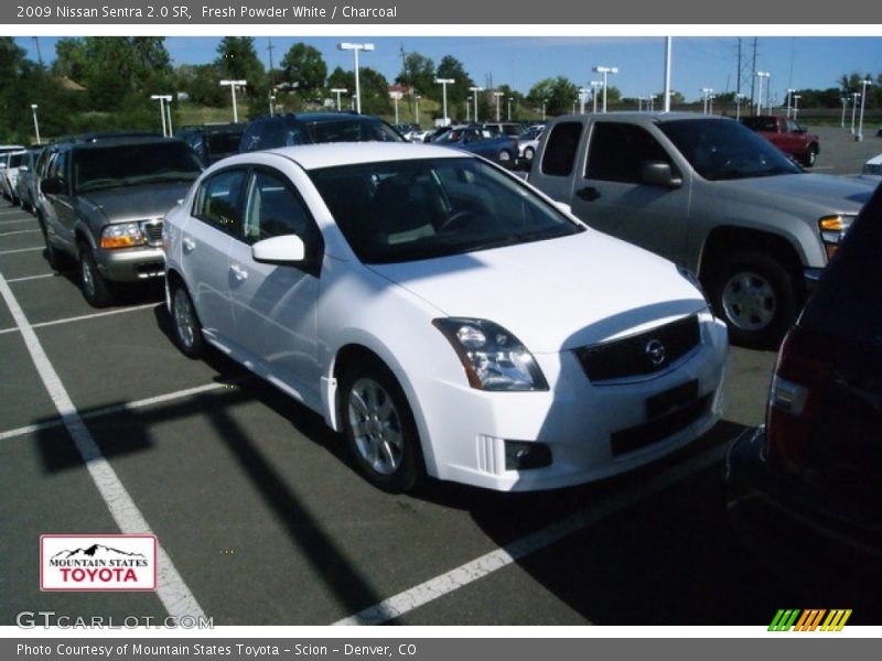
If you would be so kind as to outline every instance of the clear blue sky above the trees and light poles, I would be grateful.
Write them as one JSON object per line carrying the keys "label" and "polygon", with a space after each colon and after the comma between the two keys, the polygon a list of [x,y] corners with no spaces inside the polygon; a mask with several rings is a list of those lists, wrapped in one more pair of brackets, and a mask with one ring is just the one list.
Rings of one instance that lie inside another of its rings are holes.
{"label": "clear blue sky above the trees and light poles", "polygon": [[[338,51],[341,41],[369,42],[376,46],[361,55],[361,65],[381,73],[390,83],[401,71],[401,50],[418,52],[438,65],[444,55],[463,63],[472,79],[481,86],[509,85],[526,94],[542,78],[566,76],[580,86],[599,79],[594,66],[615,66],[617,75],[609,85],[626,97],[657,94],[664,88],[664,36],[255,36],[255,46],[265,66],[269,65],[268,45],[278,67],[284,53],[297,42],[316,47],[327,63],[329,73],[336,66],[352,69],[353,54]],[[49,64],[55,56],[57,36],[40,36],[40,51]],[[750,94],[750,72],[754,36],[743,35],[742,91]],[[34,37],[15,41],[36,59]],[[217,56],[220,36],[168,36],[168,48],[175,65],[206,64]],[[739,37],[675,36],[671,56],[671,88],[687,100],[698,100],[702,88],[714,93],[738,88]],[[842,74],[882,73],[882,36],[774,36],[756,39],[756,69],[771,76],[773,101],[785,98],[788,88],[826,89],[837,87]]]}

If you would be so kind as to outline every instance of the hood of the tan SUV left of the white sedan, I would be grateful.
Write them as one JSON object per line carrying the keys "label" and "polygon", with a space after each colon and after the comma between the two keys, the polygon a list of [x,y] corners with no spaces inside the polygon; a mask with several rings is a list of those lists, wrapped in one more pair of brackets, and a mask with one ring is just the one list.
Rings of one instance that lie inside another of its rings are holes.
{"label": "hood of the tan SUV left of the white sedan", "polygon": [[77,196],[82,210],[100,210],[109,223],[159,218],[190,189],[191,182],[166,182],[87,191]]}

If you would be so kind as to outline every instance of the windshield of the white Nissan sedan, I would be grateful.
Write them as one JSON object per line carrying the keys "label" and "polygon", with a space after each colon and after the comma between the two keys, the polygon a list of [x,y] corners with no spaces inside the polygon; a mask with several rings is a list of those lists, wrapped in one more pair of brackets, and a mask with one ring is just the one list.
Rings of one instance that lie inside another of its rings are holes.
{"label": "windshield of the white Nissan sedan", "polygon": [[344,165],[310,175],[365,263],[462,254],[584,231],[478,159]]}

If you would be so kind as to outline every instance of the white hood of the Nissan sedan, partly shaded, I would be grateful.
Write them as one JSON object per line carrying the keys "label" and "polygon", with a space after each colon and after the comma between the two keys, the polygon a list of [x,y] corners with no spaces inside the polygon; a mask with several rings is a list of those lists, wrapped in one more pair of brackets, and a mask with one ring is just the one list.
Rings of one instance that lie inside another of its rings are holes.
{"label": "white hood of the Nissan sedan, partly shaded", "polygon": [[536,354],[707,310],[701,292],[671,262],[594,230],[368,268],[444,315],[502,325]]}

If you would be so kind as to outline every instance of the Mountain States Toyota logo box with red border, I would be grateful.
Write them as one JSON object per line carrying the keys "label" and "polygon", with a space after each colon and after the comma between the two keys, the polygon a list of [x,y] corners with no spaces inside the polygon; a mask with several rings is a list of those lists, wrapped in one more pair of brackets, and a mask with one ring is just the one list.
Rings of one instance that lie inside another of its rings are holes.
{"label": "Mountain States Toyota logo box with red border", "polygon": [[41,535],[40,589],[154,590],[157,538],[152,534]]}

